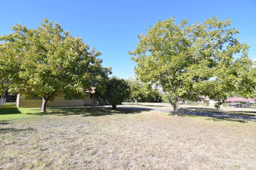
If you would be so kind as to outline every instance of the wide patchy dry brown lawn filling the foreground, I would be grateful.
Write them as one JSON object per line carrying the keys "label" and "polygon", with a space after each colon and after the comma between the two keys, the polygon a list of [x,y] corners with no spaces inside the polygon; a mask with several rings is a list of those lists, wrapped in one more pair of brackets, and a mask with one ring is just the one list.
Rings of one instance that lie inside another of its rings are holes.
{"label": "wide patchy dry brown lawn filling the foreground", "polygon": [[256,123],[50,109],[0,122],[0,169],[254,169]]}

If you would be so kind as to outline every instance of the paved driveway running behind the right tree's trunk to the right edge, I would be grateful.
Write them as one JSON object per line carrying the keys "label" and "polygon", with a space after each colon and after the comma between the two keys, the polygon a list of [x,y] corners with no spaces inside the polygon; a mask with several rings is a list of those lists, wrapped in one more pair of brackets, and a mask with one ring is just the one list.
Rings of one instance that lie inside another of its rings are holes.
{"label": "paved driveway running behind the right tree's trunk to the right edge", "polygon": [[[129,106],[129,105],[118,105],[118,108],[127,108],[127,109],[137,109],[137,110],[150,110],[150,111],[159,111],[172,114],[172,109],[161,109],[156,107],[140,107],[140,106]],[[228,119],[237,119],[241,121],[256,121],[254,116],[244,116],[239,114],[220,114],[212,112],[199,112],[199,111],[189,111],[189,110],[178,110],[178,114],[187,114],[187,115],[197,115],[197,116],[206,116],[206,117],[217,117],[217,118],[228,118]]]}

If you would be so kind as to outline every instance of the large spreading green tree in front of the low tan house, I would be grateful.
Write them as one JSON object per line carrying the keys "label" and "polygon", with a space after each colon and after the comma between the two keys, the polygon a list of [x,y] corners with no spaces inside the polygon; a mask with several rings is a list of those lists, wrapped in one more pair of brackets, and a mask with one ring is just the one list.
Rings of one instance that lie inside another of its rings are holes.
{"label": "large spreading green tree in front of the low tan house", "polygon": [[17,24],[13,33],[1,36],[0,86],[10,91],[26,90],[23,97],[42,97],[42,112],[47,102],[62,91],[65,99],[85,99],[85,91],[105,80],[111,68],[101,66],[101,55],[81,38],[63,31],[60,25],[48,22],[37,29]]}

